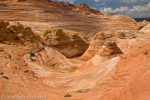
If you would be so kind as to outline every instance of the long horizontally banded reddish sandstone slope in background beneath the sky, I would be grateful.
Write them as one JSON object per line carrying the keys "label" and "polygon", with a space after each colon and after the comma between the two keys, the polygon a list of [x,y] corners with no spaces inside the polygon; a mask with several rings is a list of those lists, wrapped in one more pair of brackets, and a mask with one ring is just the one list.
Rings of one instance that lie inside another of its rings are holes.
{"label": "long horizontally banded reddish sandstone slope in background beneath the sky", "polygon": [[[20,21],[39,32],[44,27],[58,27],[86,33],[84,37],[106,29],[137,30],[137,22],[127,16],[104,16],[86,4],[74,6],[70,3],[50,0],[26,0],[21,2],[1,1],[0,16],[6,21]],[[11,15],[11,16],[10,16]],[[29,17],[30,16],[30,17]]]}

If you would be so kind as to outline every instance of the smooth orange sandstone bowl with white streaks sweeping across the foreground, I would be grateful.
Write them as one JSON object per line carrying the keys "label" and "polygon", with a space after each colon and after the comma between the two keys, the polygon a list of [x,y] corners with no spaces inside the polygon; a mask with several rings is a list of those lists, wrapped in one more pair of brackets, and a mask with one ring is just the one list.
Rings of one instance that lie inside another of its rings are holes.
{"label": "smooth orange sandstone bowl with white streaks sweeping across the foreground", "polygon": [[26,61],[27,64],[20,62],[21,60],[10,62],[11,58],[6,59],[9,56],[1,51],[0,59],[3,62],[0,60],[0,94],[47,95],[47,99],[64,100],[68,93],[71,95],[69,100],[148,100],[149,51],[150,45],[147,44],[95,66],[88,62],[75,73],[58,73],[47,67],[37,66],[36,61]]}

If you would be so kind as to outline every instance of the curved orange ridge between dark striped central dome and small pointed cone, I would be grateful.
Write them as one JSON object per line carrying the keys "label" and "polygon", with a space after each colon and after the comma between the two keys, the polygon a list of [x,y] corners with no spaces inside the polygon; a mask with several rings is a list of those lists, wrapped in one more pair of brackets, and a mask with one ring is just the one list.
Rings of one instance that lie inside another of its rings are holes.
{"label": "curved orange ridge between dark striped central dome and small pointed cone", "polygon": [[81,56],[80,60],[91,59],[104,45],[106,41],[125,38],[125,33],[121,31],[115,31],[112,29],[105,29],[104,31],[98,32],[91,40],[89,48]]}

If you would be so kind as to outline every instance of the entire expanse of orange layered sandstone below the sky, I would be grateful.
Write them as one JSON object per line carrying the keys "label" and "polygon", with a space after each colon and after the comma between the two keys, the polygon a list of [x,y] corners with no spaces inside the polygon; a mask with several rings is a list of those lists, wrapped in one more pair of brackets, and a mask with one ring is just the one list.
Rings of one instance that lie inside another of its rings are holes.
{"label": "entire expanse of orange layered sandstone below the sky", "polygon": [[74,7],[0,1],[0,16],[11,21],[0,19],[1,99],[149,100],[149,24],[139,31],[142,25],[127,16]]}

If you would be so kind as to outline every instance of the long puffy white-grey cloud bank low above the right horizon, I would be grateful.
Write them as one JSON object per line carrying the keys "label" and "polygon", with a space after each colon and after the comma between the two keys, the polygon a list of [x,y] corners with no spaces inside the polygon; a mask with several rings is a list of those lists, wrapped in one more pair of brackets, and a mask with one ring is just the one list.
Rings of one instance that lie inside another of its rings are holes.
{"label": "long puffy white-grey cloud bank low above the right horizon", "polygon": [[112,9],[111,7],[101,8],[102,13],[121,13],[123,15],[128,15],[130,17],[150,17],[150,2],[147,5],[133,6],[132,8],[123,7]]}

